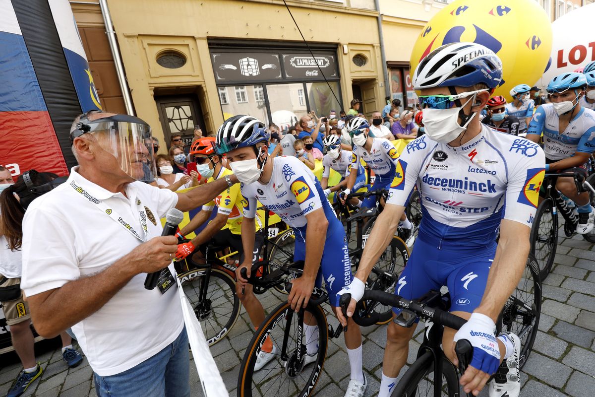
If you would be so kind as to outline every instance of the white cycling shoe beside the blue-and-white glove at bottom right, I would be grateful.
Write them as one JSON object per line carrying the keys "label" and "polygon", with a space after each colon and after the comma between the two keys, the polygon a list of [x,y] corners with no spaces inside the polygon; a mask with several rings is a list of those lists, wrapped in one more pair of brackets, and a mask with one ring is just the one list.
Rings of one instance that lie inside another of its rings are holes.
{"label": "white cycling shoe beside the blue-and-white glove at bottom right", "polygon": [[512,332],[503,332],[500,336],[508,337],[515,346],[509,358],[502,361],[490,382],[490,397],[518,397],[521,393],[521,374],[519,372],[519,354],[521,340]]}

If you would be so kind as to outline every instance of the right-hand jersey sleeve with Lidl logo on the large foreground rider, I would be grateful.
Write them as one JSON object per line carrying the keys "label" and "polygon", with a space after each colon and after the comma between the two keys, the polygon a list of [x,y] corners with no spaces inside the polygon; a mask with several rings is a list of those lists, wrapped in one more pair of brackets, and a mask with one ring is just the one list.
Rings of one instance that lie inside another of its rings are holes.
{"label": "right-hand jersey sleeve with Lidl logo on the large foreground rider", "polygon": [[546,155],[537,143],[523,141],[527,149],[517,152],[518,158],[509,163],[513,166],[506,186],[504,219],[531,227],[537,210],[539,189],[546,173]]}

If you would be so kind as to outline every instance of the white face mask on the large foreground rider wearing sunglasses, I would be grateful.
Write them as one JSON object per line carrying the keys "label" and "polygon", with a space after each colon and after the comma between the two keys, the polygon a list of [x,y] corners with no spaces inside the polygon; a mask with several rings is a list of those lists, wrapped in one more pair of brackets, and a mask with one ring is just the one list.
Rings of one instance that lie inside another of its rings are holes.
{"label": "white face mask on the large foreground rider wearing sunglasses", "polygon": [[[471,98],[468,99],[463,104],[465,107],[469,101],[475,98],[475,95],[472,95]],[[436,142],[440,143],[449,143],[456,139],[462,132],[467,129],[471,120],[475,117],[477,112],[469,117],[469,120],[465,123],[464,126],[459,126],[458,118],[459,118],[459,111],[461,108],[450,108],[450,109],[424,109],[424,127],[425,127],[425,135],[427,135],[431,140],[435,140]]]}

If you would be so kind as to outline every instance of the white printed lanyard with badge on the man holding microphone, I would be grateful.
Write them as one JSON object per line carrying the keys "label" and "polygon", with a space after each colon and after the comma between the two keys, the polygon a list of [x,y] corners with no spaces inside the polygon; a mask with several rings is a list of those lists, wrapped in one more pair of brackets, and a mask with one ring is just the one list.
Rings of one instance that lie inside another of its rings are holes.
{"label": "white printed lanyard with badge on the man holding microphone", "polygon": [[[155,220],[155,215],[153,215],[153,213],[151,212],[151,210],[149,210],[148,207],[143,207],[142,202],[140,202],[140,199],[137,198],[136,199],[136,207],[137,207],[137,211],[139,211],[139,220],[140,220],[140,224],[142,225],[142,232],[143,232],[143,236],[141,236],[139,234],[139,232],[134,230],[134,227],[132,227],[129,222],[125,221],[124,218],[122,218],[120,215],[118,215],[118,213],[115,212],[115,210],[113,210],[112,208],[109,208],[103,201],[98,200],[95,197],[93,197],[92,195],[90,195],[90,193],[87,192],[87,190],[84,190],[82,187],[78,186],[76,184],[76,182],[74,182],[74,180],[72,180],[70,182],[70,186],[74,189],[75,192],[79,193],[83,198],[89,200],[89,202],[92,202],[93,204],[95,204],[96,207],[99,208],[99,210],[104,212],[104,214],[108,215],[116,223],[118,223],[121,227],[126,229],[131,235],[133,235],[134,237],[136,237],[143,243],[145,243],[149,238],[147,217],[149,217],[149,220],[151,220],[151,222],[155,226],[157,224],[156,220]],[[157,282],[157,287],[159,288],[159,292],[161,292],[161,295],[163,295],[165,293],[165,291],[170,289],[171,286],[173,286],[173,285],[176,285],[176,279],[174,279],[173,274],[171,274],[169,267],[163,268],[161,270],[161,273],[159,273],[159,279]]]}

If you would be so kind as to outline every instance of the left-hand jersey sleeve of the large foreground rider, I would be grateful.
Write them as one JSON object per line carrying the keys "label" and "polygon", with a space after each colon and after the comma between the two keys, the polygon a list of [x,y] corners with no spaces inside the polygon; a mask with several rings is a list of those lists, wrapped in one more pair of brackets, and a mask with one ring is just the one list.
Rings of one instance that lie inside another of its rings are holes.
{"label": "left-hand jersey sleeve of the large foreground rider", "polygon": [[405,146],[403,153],[396,162],[396,174],[390,184],[389,199],[387,204],[405,205],[409,193],[413,190],[419,171],[424,164],[430,146],[425,141],[425,135],[412,140]]}

